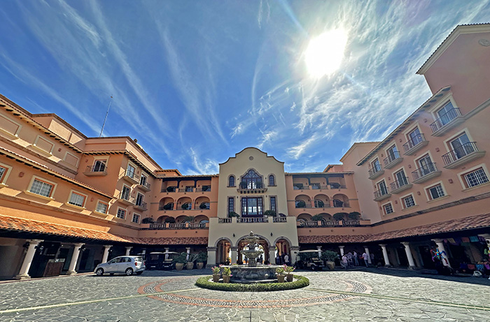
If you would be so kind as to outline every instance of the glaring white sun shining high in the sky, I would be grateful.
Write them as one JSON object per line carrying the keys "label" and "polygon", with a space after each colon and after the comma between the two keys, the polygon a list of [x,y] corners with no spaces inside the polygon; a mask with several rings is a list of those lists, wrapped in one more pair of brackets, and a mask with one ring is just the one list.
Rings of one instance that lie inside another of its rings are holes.
{"label": "glaring white sun shining high in the sky", "polygon": [[326,31],[311,39],[304,52],[308,73],[321,78],[337,71],[344,58],[347,33],[344,29]]}

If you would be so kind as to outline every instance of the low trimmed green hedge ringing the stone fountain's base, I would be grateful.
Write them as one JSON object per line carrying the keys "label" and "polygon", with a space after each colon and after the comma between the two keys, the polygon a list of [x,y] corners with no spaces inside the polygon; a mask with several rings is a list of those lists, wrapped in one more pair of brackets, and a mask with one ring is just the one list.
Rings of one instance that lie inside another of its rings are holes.
{"label": "low trimmed green hedge ringing the stone fountain's base", "polygon": [[267,291],[284,291],[302,288],[309,285],[309,279],[300,275],[294,275],[296,280],[286,281],[284,283],[256,283],[256,284],[240,284],[240,283],[216,283],[209,281],[211,276],[200,277],[195,285],[208,288],[216,291],[239,291],[239,292],[267,292]]}

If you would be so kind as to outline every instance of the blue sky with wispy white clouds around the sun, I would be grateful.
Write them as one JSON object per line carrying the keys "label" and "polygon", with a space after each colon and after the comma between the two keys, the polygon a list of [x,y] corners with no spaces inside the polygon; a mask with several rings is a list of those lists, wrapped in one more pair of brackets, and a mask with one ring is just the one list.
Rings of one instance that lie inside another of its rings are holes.
{"label": "blue sky with wispy white clouds around the sun", "polygon": [[[86,136],[137,138],[162,168],[218,173],[245,147],[322,171],[430,96],[415,72],[489,1],[1,1],[0,93]],[[339,70],[304,50],[348,33]]]}

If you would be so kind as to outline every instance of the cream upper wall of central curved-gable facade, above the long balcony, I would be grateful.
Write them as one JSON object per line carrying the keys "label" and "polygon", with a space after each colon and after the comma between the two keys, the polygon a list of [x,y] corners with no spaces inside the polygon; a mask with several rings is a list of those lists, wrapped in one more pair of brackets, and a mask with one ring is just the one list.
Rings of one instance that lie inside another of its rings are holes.
{"label": "cream upper wall of central curved-gable facade, above the long balcony", "polygon": [[[250,160],[250,158],[253,160]],[[276,196],[277,213],[288,215],[288,205],[286,198],[286,181],[284,177],[284,163],[279,162],[272,156],[254,147],[248,147],[235,154],[235,157],[228,159],[225,163],[220,164],[220,176],[218,184],[218,217],[228,217],[228,197],[235,197],[235,212],[241,214],[240,196],[243,194],[237,191],[240,184],[240,178],[250,169],[254,169],[263,176],[262,181],[267,187],[263,194],[253,194],[246,196],[262,196],[264,210],[270,209],[269,196]],[[269,175],[275,175],[276,186],[268,186]],[[235,187],[228,187],[228,177],[235,175]]]}

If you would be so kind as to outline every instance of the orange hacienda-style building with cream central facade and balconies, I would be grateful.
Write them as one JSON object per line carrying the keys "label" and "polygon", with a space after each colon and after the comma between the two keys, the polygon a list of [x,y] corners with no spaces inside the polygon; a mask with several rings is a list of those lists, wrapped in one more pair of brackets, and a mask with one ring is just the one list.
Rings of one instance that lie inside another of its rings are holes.
{"label": "orange hacienda-style building with cream central facade and balconies", "polygon": [[330,249],[433,268],[437,247],[447,265],[475,269],[490,243],[490,24],[456,27],[417,73],[427,101],[320,173],[285,173],[248,147],[218,174],[181,175],[136,140],[87,138],[0,96],[0,278],[88,272],[165,250],[237,263],[251,230],[266,262]]}

